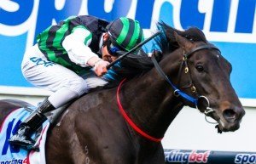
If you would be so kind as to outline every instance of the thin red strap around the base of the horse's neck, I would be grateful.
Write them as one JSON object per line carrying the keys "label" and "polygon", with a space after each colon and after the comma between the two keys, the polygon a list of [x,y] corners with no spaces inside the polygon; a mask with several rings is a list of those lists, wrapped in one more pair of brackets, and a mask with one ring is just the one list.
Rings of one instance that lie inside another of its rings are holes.
{"label": "thin red strap around the base of the horse's neck", "polygon": [[161,139],[156,139],[156,138],[150,136],[148,133],[143,132],[143,130],[142,130],[140,127],[137,127],[137,125],[136,125],[134,122],[132,122],[131,118],[125,113],[125,110],[124,110],[124,108],[123,108],[123,106],[122,106],[122,104],[121,104],[121,101],[120,101],[120,99],[119,99],[120,88],[121,88],[121,86],[122,86],[122,84],[123,84],[124,82],[125,82],[125,79],[122,80],[122,82],[119,83],[119,87],[118,87],[117,93],[116,93],[116,99],[117,99],[117,103],[118,103],[118,106],[119,106],[119,111],[120,111],[120,113],[122,114],[122,116],[124,116],[125,121],[128,122],[129,125],[130,125],[137,133],[141,134],[144,138],[149,139],[149,140],[151,140],[151,141],[160,142],[160,141],[162,140],[162,138],[161,138]]}

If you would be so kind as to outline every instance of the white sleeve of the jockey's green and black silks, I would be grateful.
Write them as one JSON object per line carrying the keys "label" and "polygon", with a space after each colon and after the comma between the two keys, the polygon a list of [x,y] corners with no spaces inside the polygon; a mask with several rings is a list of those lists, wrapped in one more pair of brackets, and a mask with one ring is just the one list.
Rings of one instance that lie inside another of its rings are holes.
{"label": "white sleeve of the jockey's green and black silks", "polygon": [[98,56],[88,47],[92,39],[92,34],[83,25],[75,27],[70,35],[64,38],[63,48],[67,51],[69,59],[82,67],[87,65],[88,59]]}

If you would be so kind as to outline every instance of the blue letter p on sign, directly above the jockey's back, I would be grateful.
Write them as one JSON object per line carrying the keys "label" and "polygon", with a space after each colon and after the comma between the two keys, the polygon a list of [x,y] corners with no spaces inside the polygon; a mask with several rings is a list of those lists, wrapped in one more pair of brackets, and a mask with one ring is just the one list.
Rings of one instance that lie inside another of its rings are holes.
{"label": "blue letter p on sign, directly above the jockey's back", "polygon": [[[73,0],[66,0],[64,7],[61,10],[57,10],[55,8],[55,1],[39,1],[38,20],[35,32],[36,36],[51,25],[53,19],[55,19],[56,22],[59,22],[67,19],[69,16],[78,15],[81,4],[82,0],[76,0],[75,2]],[[86,6],[84,6],[84,8],[86,8]],[[95,10],[95,8],[93,9]]]}

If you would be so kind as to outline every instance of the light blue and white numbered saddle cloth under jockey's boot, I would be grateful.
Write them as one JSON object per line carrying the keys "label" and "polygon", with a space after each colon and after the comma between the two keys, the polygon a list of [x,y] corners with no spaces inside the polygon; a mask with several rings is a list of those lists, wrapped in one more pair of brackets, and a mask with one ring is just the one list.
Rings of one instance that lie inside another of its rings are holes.
{"label": "light blue and white numbered saddle cloth under jockey's boot", "polygon": [[10,145],[8,142],[9,138],[17,132],[20,123],[30,113],[31,111],[24,108],[13,110],[3,121],[0,127],[0,164],[45,164],[44,145],[49,121],[44,122],[42,128],[32,134],[32,139],[37,140],[36,145],[39,151],[26,150],[20,146]]}

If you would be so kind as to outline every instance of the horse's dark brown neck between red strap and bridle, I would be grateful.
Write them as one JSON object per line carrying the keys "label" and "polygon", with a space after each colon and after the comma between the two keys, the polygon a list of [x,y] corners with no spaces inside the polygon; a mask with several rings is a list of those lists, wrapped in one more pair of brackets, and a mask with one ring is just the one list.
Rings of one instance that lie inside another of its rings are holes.
{"label": "horse's dark brown neck between red strap and bridle", "polygon": [[[178,57],[173,55],[166,58],[168,59],[164,59],[160,66],[174,80],[179,67]],[[131,120],[155,137],[162,137],[166,133],[166,129],[183,107],[173,95],[172,87],[155,69],[127,82],[122,89],[125,93],[121,95],[121,102]]]}

